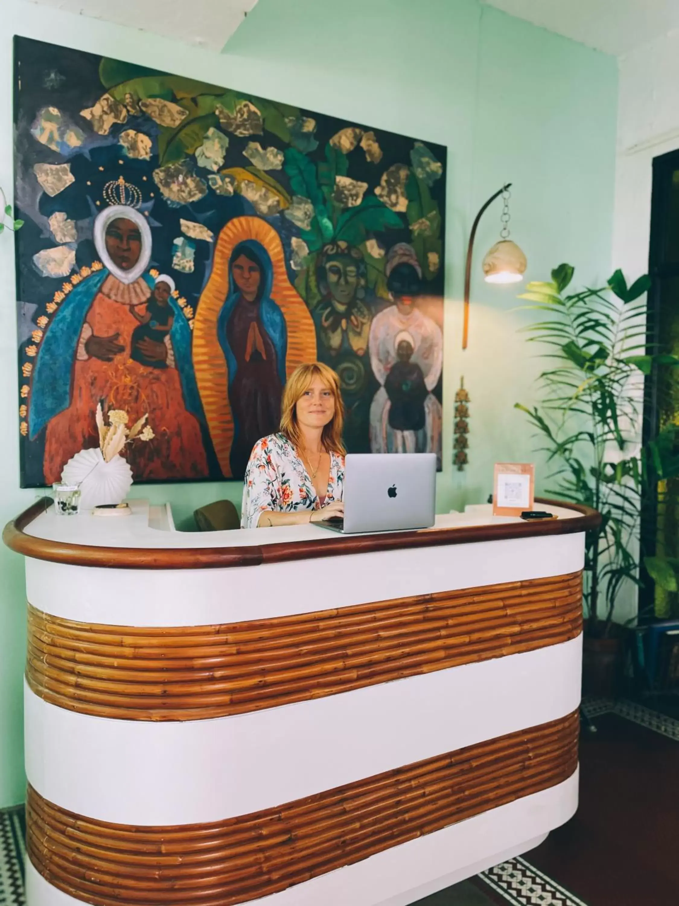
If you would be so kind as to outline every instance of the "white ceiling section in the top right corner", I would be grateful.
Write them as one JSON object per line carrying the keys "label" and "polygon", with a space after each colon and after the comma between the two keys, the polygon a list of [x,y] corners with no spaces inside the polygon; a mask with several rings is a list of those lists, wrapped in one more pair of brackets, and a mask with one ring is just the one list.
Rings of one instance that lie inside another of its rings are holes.
{"label": "white ceiling section in the top right corner", "polygon": [[679,28],[679,0],[482,2],[615,56]]}

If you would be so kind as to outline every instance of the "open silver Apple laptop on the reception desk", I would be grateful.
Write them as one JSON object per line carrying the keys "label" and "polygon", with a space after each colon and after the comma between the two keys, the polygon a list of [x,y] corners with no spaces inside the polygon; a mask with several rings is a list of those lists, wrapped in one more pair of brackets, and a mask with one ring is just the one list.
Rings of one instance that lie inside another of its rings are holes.
{"label": "open silver Apple laptop on the reception desk", "polygon": [[315,525],[344,534],[429,528],[435,496],[435,453],[348,453],[344,519]]}

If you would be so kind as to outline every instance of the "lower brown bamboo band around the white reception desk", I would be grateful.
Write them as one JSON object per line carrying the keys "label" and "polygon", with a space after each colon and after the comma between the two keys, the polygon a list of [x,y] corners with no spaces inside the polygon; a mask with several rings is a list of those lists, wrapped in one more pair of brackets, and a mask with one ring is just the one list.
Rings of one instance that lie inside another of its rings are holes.
{"label": "lower brown bamboo band around the white reception desk", "polygon": [[216,824],[108,824],[29,786],[27,849],[46,881],[93,906],[234,906],[557,786],[578,766],[578,735],[574,712]]}

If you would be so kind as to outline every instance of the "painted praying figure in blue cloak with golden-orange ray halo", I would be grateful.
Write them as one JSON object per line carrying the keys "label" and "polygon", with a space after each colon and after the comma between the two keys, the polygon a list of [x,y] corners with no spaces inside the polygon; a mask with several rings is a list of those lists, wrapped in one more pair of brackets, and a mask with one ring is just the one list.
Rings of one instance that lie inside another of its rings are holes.
{"label": "painted praying figure in blue cloak with golden-orange ray halo", "polygon": [[288,280],[281,238],[259,217],[235,217],[219,234],[193,359],[222,472],[242,478],[255,443],[278,430],[287,376],[316,360],[311,314]]}

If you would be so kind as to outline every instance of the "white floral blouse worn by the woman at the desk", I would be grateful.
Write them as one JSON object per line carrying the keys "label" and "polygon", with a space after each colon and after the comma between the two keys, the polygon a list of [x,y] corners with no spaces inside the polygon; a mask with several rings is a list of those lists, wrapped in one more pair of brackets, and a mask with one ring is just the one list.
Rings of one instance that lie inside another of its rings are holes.
{"label": "white floral blouse worn by the woman at the desk", "polygon": [[[242,528],[256,528],[260,514],[266,510],[296,513],[303,509],[320,509],[320,499],[313,482],[290,440],[282,434],[270,434],[254,445],[245,469]],[[330,477],[325,504],[342,499],[344,457],[330,453]]]}

